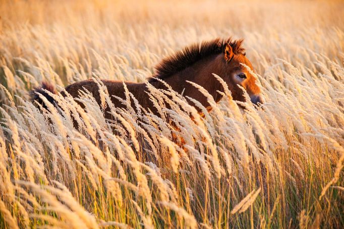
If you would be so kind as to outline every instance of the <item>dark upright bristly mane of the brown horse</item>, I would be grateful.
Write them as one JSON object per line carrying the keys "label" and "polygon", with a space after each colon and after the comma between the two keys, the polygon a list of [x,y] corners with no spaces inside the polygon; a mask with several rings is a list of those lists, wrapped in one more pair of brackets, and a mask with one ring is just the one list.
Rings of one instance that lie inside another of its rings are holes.
{"label": "dark upright bristly mane of the brown horse", "polygon": [[201,43],[194,43],[186,46],[182,50],[163,58],[155,66],[154,75],[153,77],[148,78],[148,81],[153,82],[156,81],[156,79],[163,80],[181,70],[184,70],[207,56],[219,54],[223,51],[226,43],[231,45],[234,54],[243,54],[245,51],[242,47],[243,41],[243,39],[233,40],[232,37],[226,40],[216,38],[214,40],[203,41]]}

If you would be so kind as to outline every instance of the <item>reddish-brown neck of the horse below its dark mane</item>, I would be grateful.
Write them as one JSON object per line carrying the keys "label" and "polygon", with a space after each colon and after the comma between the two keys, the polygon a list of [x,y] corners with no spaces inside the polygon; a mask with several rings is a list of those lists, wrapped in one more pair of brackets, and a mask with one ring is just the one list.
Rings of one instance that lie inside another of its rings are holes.
{"label": "reddish-brown neck of the horse below its dark mane", "polygon": [[[200,92],[186,81],[196,83],[203,87],[218,102],[221,96],[217,91],[223,91],[221,84],[213,77],[212,73],[222,75],[221,62],[218,55],[209,56],[199,60],[190,67],[163,79],[174,91],[183,93],[183,96],[195,98]],[[156,88],[165,88],[160,82],[153,82]]]}

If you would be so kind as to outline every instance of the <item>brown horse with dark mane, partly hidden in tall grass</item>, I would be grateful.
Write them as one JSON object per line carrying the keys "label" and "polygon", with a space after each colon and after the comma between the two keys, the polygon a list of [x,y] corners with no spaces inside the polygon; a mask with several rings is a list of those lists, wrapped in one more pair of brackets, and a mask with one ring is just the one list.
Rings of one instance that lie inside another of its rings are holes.
{"label": "brown horse with dark mane, partly hidden in tall grass", "polygon": [[[245,49],[242,47],[242,43],[243,40],[232,40],[231,38],[223,40],[217,38],[187,46],[158,63],[155,67],[155,74],[148,79],[148,82],[155,88],[165,89],[163,83],[156,80],[158,78],[166,82],[176,92],[183,93],[183,96],[189,96],[199,101],[210,110],[211,108],[206,97],[186,81],[202,86],[218,102],[222,96],[217,91],[223,91],[223,88],[218,80],[212,76],[212,73],[215,73],[227,83],[234,100],[245,101],[244,93],[238,86],[240,85],[246,90],[254,104],[262,103],[263,99],[260,95],[260,89],[255,84],[256,79],[243,65],[245,64],[253,70],[251,62],[245,56]],[[102,83],[107,88],[110,96],[116,95],[125,98],[123,82],[103,80]],[[142,107],[149,108],[156,113],[156,109],[146,93],[148,89],[145,83],[125,82],[125,84]],[[93,80],[69,85],[66,87],[66,91],[76,98],[79,96],[79,91],[84,88],[91,92],[100,104],[99,88]],[[45,107],[43,101],[38,96],[38,94],[41,94],[50,103],[56,105],[53,98],[45,90],[56,93],[53,86],[43,83],[41,87],[31,91],[31,99]],[[114,106],[124,106],[116,98],[111,98],[111,100]],[[193,105],[191,101],[190,104]],[[199,108],[196,107],[196,109],[200,112]],[[111,118],[108,112],[105,113],[105,117]]]}

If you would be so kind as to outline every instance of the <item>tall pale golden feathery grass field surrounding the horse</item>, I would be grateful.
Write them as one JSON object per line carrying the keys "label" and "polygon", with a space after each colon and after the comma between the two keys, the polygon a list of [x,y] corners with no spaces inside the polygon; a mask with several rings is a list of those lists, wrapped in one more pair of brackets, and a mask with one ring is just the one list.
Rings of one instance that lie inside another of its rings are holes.
{"label": "tall pale golden feathery grass field surrounding the horse", "polygon": [[[343,15],[340,1],[0,0],[0,227],[343,228]],[[85,110],[29,102],[43,80],[143,82],[229,36],[245,39],[262,108],[228,97],[201,117],[152,89],[159,118],[100,88],[106,122],[87,94]]]}

